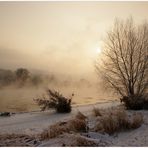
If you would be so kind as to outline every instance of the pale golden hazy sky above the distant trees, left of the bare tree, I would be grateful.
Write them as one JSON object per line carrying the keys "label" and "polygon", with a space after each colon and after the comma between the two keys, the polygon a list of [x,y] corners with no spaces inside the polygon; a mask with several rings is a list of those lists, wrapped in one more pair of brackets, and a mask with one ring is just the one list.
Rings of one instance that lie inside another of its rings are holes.
{"label": "pale golden hazy sky above the distant trees, left of the bare tree", "polygon": [[148,2],[0,2],[0,68],[91,75],[115,17],[148,19]]}

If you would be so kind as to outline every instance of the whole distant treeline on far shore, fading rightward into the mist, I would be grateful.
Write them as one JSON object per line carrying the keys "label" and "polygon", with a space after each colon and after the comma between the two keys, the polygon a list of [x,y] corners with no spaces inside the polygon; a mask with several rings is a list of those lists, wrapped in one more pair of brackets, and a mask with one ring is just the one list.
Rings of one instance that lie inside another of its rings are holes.
{"label": "whole distant treeline on far shore, fading rightward into the mist", "polygon": [[57,78],[54,74],[37,74],[32,73],[26,68],[18,68],[14,71],[0,69],[0,87],[6,87],[9,85],[15,85],[18,87],[23,86],[39,86],[39,85],[62,85],[62,86],[87,86],[90,87],[91,83],[84,79],[80,78],[79,80],[73,81],[71,79],[64,79],[62,76],[61,78]]}

